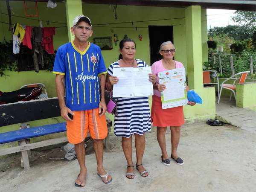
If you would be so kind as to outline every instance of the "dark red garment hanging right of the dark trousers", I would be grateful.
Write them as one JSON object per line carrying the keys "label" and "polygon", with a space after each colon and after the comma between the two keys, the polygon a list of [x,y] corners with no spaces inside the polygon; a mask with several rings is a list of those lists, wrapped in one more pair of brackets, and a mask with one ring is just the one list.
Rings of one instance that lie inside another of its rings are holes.
{"label": "dark red garment hanging right of the dark trousers", "polygon": [[55,27],[43,27],[43,42],[42,46],[44,47],[45,51],[49,54],[54,53],[53,48],[53,35],[55,35]]}

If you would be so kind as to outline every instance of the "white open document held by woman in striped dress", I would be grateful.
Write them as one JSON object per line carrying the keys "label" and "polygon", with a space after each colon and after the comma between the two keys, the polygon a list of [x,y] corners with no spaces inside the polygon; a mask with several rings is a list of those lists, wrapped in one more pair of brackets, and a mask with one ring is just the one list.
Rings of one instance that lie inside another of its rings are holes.
{"label": "white open document held by woman in striped dress", "polygon": [[113,85],[113,97],[134,97],[153,95],[153,84],[148,74],[151,67],[114,67],[113,76],[118,78]]}

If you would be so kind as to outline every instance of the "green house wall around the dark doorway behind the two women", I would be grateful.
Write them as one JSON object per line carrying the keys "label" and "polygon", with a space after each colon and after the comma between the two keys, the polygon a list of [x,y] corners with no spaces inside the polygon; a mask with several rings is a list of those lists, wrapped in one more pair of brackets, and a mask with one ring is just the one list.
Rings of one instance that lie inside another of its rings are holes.
{"label": "green house wall around the dark doorway behind the two women", "polygon": [[[119,41],[122,40],[125,34],[129,38],[133,39],[137,44],[137,56],[136,58],[142,58],[148,64],[150,64],[150,47],[148,37],[148,25],[159,26],[174,26],[174,44],[177,49],[175,58],[177,61],[183,62],[186,65],[186,55],[184,55],[184,49],[186,49],[185,37],[185,19],[163,20],[163,21],[148,21],[139,22],[132,25],[132,21],[143,20],[156,20],[166,18],[179,18],[185,17],[183,8],[168,8],[168,7],[146,7],[146,6],[117,6],[118,19],[115,20],[113,7],[109,5],[96,5],[83,3],[84,15],[90,17],[93,25],[93,39],[94,37],[106,37],[113,34],[117,34]],[[152,14],[154,12],[154,14]],[[104,17],[102,17],[104,13]],[[118,23],[129,22],[122,24],[104,25],[105,27],[95,26],[95,24],[101,23]],[[137,26],[137,31],[136,27]],[[118,28],[118,27],[130,27],[130,28]],[[160,32],[161,33],[161,32]],[[139,41],[138,36],[143,35],[143,41]],[[157,38],[157,37],[156,37]],[[92,40],[91,40],[92,41]],[[119,43],[119,42],[118,42]],[[102,55],[105,59],[106,66],[109,66],[112,62],[116,61],[119,56],[119,44],[115,46],[111,51],[102,51]]]}

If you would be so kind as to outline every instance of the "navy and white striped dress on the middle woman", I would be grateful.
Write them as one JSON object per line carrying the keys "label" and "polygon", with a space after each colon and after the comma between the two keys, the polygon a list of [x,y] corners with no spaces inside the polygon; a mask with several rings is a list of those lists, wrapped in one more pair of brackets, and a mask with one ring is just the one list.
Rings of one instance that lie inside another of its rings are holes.
{"label": "navy and white striped dress on the middle woman", "polygon": [[[140,59],[137,67],[147,67],[148,64]],[[108,74],[113,76],[113,67],[120,67],[119,61],[108,67]],[[135,82],[136,83],[136,82]],[[116,136],[131,137],[131,134],[143,135],[151,130],[151,119],[146,97],[122,97],[117,99],[117,115],[114,120],[114,133]]]}

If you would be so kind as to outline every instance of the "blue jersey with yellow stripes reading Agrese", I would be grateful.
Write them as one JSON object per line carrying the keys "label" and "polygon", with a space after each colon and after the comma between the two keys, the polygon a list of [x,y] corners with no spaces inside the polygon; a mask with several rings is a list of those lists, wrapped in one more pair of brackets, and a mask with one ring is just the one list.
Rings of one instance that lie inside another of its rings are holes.
{"label": "blue jersey with yellow stripes reading Agrese", "polygon": [[84,52],[73,42],[62,45],[56,53],[53,73],[65,76],[66,105],[72,111],[99,107],[99,75],[107,70],[97,45],[89,43]]}

